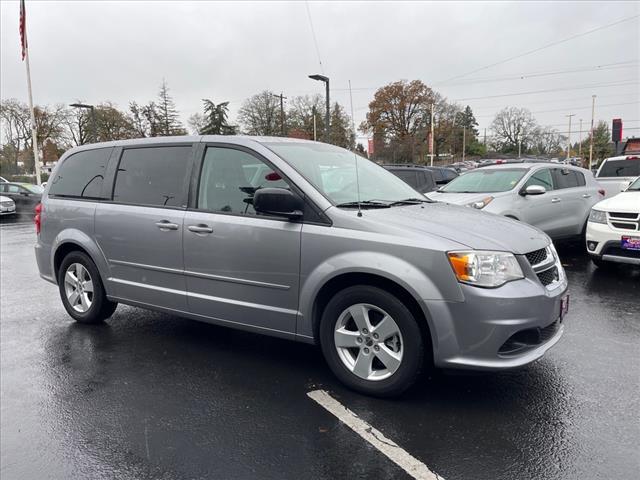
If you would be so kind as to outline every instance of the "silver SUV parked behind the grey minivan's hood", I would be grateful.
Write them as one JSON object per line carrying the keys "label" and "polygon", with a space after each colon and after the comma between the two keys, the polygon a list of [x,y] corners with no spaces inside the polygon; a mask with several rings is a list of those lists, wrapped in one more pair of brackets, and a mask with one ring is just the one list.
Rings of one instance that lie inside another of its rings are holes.
{"label": "silver SUV parked behind the grey minivan's hood", "polygon": [[584,236],[604,190],[584,168],[508,163],[464,173],[427,197],[526,222],[561,240]]}

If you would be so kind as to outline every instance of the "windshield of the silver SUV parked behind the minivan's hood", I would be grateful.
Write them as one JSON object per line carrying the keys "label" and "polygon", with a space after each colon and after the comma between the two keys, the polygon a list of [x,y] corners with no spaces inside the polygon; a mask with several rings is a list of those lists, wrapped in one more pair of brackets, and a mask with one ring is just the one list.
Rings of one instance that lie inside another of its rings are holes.
{"label": "windshield of the silver SUV parked behind the minivan's hood", "polygon": [[506,192],[515,187],[527,172],[524,168],[474,170],[460,175],[439,191],[450,193]]}

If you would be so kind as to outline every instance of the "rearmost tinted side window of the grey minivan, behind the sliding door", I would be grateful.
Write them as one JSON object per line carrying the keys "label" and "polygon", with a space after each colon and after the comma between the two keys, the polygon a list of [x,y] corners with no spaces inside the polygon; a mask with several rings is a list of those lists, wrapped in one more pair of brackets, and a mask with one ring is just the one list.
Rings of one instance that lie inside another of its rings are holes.
{"label": "rearmost tinted side window of the grey minivan, behind the sliding door", "polygon": [[51,180],[49,195],[100,198],[111,150],[99,148],[68,157]]}

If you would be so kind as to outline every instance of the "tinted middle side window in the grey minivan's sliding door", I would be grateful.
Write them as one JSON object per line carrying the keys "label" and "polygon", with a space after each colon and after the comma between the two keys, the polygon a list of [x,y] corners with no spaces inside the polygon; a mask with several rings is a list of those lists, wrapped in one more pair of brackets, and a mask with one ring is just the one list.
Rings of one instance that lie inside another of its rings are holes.
{"label": "tinted middle side window in the grey minivan's sliding door", "polygon": [[167,207],[184,205],[190,156],[191,145],[124,150],[113,201]]}

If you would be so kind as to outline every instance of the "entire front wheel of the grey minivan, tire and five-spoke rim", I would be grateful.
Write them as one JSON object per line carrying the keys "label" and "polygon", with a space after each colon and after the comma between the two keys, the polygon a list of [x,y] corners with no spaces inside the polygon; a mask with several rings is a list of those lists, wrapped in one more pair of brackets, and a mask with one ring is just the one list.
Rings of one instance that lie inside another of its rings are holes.
{"label": "entire front wheel of the grey minivan, tire and five-spoke rim", "polygon": [[400,395],[422,369],[424,345],[416,319],[380,288],[358,285],[338,292],[324,309],[319,333],[333,373],[359,392]]}

